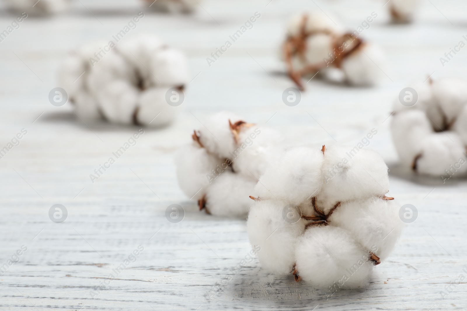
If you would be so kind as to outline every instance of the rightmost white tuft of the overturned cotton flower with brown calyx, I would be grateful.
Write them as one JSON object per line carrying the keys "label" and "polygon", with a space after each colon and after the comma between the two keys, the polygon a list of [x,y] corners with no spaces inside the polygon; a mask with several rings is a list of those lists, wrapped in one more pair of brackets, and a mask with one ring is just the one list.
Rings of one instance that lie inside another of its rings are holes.
{"label": "rightmost white tuft of the overturned cotton flower with brown calyx", "polygon": [[384,76],[386,58],[381,48],[363,43],[342,62],[347,81],[352,85],[373,86]]}

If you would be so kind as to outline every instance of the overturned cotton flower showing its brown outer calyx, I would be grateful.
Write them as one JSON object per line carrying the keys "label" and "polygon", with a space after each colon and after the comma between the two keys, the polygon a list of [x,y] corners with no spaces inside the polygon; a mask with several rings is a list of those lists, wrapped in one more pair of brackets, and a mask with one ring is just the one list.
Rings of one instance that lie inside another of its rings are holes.
{"label": "overturned cotton flower showing its brown outer calyx", "polygon": [[301,77],[318,72],[352,85],[372,86],[383,75],[382,50],[355,33],[346,33],[336,19],[311,12],[292,18],[283,44],[283,58],[290,78],[303,90]]}

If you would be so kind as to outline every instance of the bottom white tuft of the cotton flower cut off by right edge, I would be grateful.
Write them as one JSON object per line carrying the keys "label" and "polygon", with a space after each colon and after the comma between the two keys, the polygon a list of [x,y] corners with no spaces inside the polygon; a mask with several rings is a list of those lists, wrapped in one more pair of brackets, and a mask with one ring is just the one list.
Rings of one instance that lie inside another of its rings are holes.
{"label": "bottom white tuft of the cotton flower cut off by right edge", "polygon": [[466,162],[465,152],[465,146],[455,132],[432,133],[423,140],[415,169],[418,173],[442,176],[459,163],[452,172],[457,176],[465,175],[467,165],[462,165]]}

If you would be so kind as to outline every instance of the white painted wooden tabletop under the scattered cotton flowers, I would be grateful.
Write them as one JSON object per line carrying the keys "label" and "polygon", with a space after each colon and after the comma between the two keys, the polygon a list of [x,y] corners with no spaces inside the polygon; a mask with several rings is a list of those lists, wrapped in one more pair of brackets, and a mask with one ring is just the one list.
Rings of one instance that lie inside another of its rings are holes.
{"label": "white painted wooden tabletop under the scattered cotton flowers", "polygon": [[[89,174],[138,128],[89,128],[73,117],[68,104],[54,107],[47,96],[65,53],[85,41],[110,38],[142,10],[140,3],[75,1],[68,14],[28,17],[0,43],[0,148],[22,128],[28,131],[0,159],[0,265],[21,245],[28,248],[0,276],[0,310],[467,309],[466,281],[457,283],[460,275],[467,276],[467,183],[443,185],[441,178],[398,168],[386,120],[392,98],[410,80],[423,81],[433,71],[434,78],[466,76],[467,50],[445,67],[439,57],[467,34],[467,5],[423,1],[417,22],[401,26],[387,23],[384,1],[268,2],[205,0],[198,14],[188,17],[146,13],[133,33],[154,32],[182,48],[194,80],[177,122],[146,130],[95,183]],[[362,36],[387,51],[388,78],[374,89],[313,79],[302,102],[287,107],[281,95],[293,85],[280,74],[276,52],[284,23],[294,12],[318,7],[348,28],[378,13]],[[209,67],[205,58],[255,12],[262,17],[254,27]],[[14,17],[1,12],[0,29]],[[326,300],[323,290],[265,274],[256,259],[234,275],[232,269],[250,250],[245,221],[198,212],[179,190],[172,162],[173,152],[200,126],[198,119],[222,109],[251,122],[270,119],[268,125],[284,131],[291,145],[333,138],[355,145],[370,129],[378,130],[368,148],[389,163],[389,194],[401,205],[415,205],[419,215],[389,260],[375,268],[368,289],[342,290]],[[177,224],[164,216],[174,203],[186,211]],[[53,204],[67,208],[64,223],[50,221]],[[137,260],[92,298],[138,245],[144,250]],[[233,279],[213,293],[228,276]],[[446,286],[450,294],[443,300]],[[210,299],[212,294],[217,296]]]}

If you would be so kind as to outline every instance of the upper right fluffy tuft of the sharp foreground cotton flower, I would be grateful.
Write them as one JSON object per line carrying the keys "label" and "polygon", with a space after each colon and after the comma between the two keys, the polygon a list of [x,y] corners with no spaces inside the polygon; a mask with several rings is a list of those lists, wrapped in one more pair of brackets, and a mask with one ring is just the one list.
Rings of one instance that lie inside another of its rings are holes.
{"label": "upper right fluffy tuft of the sharp foreground cotton flower", "polygon": [[323,185],[316,197],[326,214],[337,202],[383,197],[389,191],[388,166],[382,157],[357,146],[326,148],[320,178]]}

